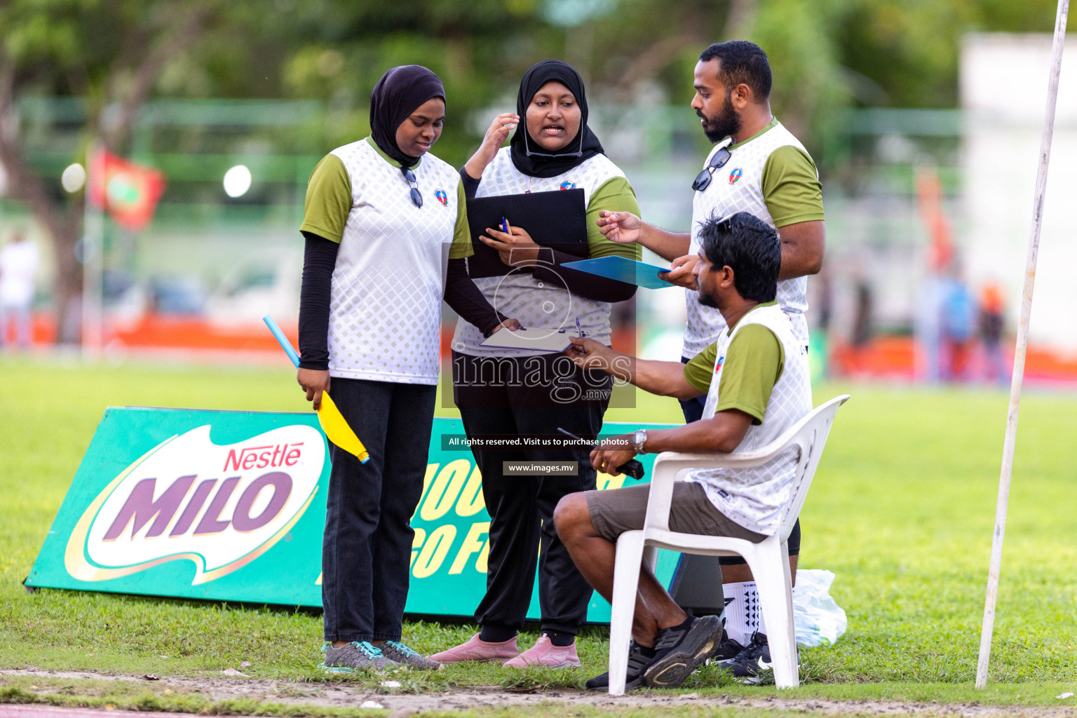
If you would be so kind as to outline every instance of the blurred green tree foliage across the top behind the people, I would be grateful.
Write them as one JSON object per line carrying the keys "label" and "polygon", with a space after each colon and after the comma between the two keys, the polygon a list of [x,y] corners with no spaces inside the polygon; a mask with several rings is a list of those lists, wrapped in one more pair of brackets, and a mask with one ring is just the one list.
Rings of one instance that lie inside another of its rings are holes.
{"label": "blurred green tree foliage across the top behind the people", "polygon": [[84,98],[84,138],[121,154],[152,97],[314,99],[326,122],[304,139],[327,151],[366,133],[386,69],[419,64],[445,82],[451,131],[438,154],[460,164],[481,137],[465,121],[510,109],[540,59],[574,64],[592,99],[657,88],[686,105],[700,51],[747,38],[771,59],[775,114],[811,145],[849,105],[953,107],[963,33],[1049,31],[1053,11],[1054,0],[6,0],[0,163],[56,242],[62,313],[79,288],[82,200],[27,164],[23,97]]}

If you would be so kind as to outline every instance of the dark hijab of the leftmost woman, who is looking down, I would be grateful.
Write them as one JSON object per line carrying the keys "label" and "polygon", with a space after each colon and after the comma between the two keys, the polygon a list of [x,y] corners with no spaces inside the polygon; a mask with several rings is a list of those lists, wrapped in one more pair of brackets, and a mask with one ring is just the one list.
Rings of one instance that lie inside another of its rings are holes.
{"label": "dark hijab of the leftmost woman, who is looking down", "polygon": [[401,65],[381,75],[370,93],[370,137],[381,151],[410,167],[419,161],[396,146],[396,128],[423,102],[445,99],[445,87],[436,74],[421,65]]}

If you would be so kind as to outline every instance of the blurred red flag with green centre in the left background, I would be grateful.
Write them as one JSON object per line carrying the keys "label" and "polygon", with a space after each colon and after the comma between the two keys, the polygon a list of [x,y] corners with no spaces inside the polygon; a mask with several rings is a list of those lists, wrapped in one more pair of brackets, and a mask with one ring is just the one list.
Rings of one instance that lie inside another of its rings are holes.
{"label": "blurred red flag with green centre in the left background", "polygon": [[98,150],[89,158],[87,196],[120,226],[138,231],[150,224],[165,192],[165,174]]}

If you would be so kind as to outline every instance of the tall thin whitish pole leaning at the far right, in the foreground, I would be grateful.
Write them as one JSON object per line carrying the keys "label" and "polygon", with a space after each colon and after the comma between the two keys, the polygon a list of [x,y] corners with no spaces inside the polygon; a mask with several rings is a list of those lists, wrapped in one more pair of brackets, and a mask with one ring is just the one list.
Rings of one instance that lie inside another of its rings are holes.
{"label": "tall thin whitish pole leaning at the far right, in the foreground", "polygon": [[1024,266],[1024,288],[1021,292],[1021,321],[1017,326],[1017,350],[1013,353],[1013,377],[1010,380],[1010,405],[1006,417],[1006,441],[1003,444],[1003,468],[998,477],[998,505],[995,508],[995,532],[991,544],[991,568],[988,572],[988,594],[983,605],[983,629],[980,633],[980,660],[976,667],[976,687],[988,685],[988,663],[991,660],[991,635],[995,625],[995,601],[998,597],[998,571],[1003,562],[1003,537],[1006,534],[1006,507],[1009,504],[1010,474],[1013,469],[1013,442],[1017,437],[1017,416],[1021,408],[1021,383],[1024,380],[1024,354],[1029,346],[1029,315],[1032,312],[1032,290],[1036,282],[1036,257],[1039,254],[1039,230],[1044,223],[1044,193],[1047,189],[1047,165],[1051,157],[1054,133],[1054,105],[1059,97],[1059,72],[1062,70],[1062,46],[1066,36],[1066,14],[1069,0],[1059,0],[1051,46],[1051,76],[1047,85],[1047,109],[1044,113],[1044,135],[1039,141],[1039,168],[1036,170],[1036,195],[1032,205],[1032,231]]}

